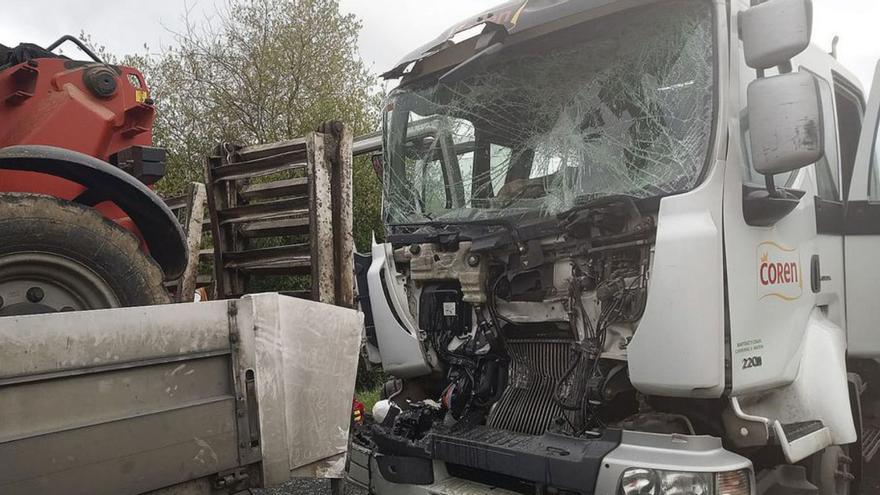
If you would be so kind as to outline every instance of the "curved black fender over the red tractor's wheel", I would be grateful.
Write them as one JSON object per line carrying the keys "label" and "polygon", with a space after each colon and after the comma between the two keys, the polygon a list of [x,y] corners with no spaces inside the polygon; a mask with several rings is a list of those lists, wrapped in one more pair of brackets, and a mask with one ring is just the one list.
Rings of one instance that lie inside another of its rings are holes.
{"label": "curved black fender over the red tractor's wheel", "polygon": [[180,278],[186,269],[186,241],[177,218],[155,192],[113,165],[55,146],[19,145],[0,149],[0,170],[48,174],[99,193],[134,222],[166,280]]}

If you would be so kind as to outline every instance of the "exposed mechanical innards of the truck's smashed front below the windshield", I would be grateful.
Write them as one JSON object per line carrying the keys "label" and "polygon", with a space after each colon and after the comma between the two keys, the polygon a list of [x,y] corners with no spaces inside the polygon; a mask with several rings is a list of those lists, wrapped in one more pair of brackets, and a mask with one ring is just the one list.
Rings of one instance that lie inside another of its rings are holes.
{"label": "exposed mechanical innards of the truck's smashed front below the windshield", "polygon": [[586,436],[643,411],[626,354],[645,307],[655,217],[611,197],[551,223],[422,228],[404,237],[435,242],[395,244],[443,376],[421,381],[423,400],[392,396],[404,410],[385,423],[394,436],[415,440],[439,424]]}

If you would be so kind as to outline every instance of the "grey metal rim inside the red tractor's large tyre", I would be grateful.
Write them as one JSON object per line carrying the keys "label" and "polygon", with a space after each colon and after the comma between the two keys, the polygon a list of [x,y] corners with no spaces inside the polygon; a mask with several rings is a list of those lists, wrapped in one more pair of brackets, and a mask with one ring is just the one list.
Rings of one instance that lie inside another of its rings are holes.
{"label": "grey metal rim inside the red tractor's large tyre", "polygon": [[0,256],[0,316],[119,306],[110,285],[78,261],[52,253]]}

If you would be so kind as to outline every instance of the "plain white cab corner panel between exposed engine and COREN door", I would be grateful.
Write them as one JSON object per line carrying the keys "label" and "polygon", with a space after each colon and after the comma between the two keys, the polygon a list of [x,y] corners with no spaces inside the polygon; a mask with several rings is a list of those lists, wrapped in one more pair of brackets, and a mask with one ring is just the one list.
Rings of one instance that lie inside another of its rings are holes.
{"label": "plain white cab corner panel between exposed engine and COREN door", "polygon": [[723,168],[715,170],[660,205],[647,306],[628,349],[630,380],[644,393],[724,392]]}

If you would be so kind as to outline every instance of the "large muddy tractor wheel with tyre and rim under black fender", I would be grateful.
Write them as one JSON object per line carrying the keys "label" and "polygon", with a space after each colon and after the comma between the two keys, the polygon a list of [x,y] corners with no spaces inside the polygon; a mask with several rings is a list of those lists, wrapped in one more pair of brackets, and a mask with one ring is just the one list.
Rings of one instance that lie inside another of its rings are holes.
{"label": "large muddy tractor wheel with tyre and rim under black fender", "polygon": [[0,317],[169,302],[130,232],[76,203],[0,194]]}

